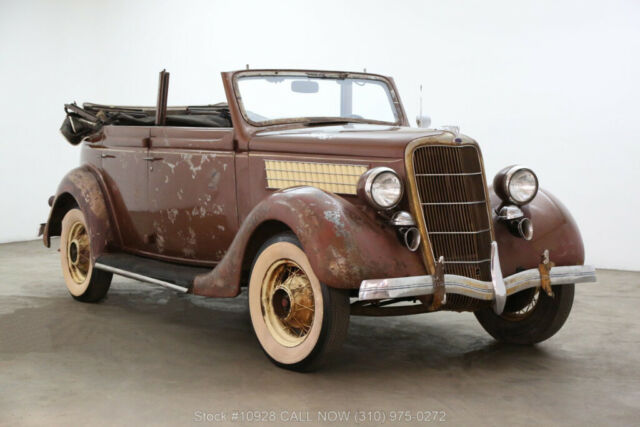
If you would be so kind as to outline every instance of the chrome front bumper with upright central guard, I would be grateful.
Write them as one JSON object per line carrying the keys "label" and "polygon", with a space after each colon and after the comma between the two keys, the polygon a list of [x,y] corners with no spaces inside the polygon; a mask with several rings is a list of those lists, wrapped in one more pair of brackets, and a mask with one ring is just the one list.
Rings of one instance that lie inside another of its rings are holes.
{"label": "chrome front bumper with upright central guard", "polygon": [[[595,282],[595,268],[589,265],[552,267],[549,271],[551,285]],[[516,292],[540,286],[540,271],[536,268],[502,277],[498,245],[491,244],[491,281],[471,279],[455,274],[444,275],[446,294],[465,295],[485,301],[493,301],[497,314],[504,310],[507,297]],[[360,284],[359,299],[376,300],[389,298],[417,297],[434,292],[432,276],[399,277],[394,279],[363,280]]]}

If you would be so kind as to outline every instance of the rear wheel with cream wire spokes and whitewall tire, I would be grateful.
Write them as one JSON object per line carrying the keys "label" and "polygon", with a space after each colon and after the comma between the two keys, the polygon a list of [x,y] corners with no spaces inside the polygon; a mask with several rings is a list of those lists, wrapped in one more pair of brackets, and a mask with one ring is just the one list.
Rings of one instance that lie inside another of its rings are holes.
{"label": "rear wheel with cream wire spokes and whitewall tire", "polygon": [[75,299],[95,302],[105,296],[112,275],[93,269],[91,238],[80,209],[69,210],[62,219],[60,261],[67,289]]}

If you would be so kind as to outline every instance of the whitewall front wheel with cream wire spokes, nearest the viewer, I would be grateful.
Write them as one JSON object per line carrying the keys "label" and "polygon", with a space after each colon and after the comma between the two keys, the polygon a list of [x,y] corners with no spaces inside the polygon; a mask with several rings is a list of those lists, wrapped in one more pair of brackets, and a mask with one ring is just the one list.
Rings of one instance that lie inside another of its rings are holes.
{"label": "whitewall front wheel with cream wire spokes, nearest the viewer", "polygon": [[311,371],[342,346],[349,296],[320,283],[296,236],[282,233],[265,242],[253,262],[249,312],[260,345],[276,365]]}

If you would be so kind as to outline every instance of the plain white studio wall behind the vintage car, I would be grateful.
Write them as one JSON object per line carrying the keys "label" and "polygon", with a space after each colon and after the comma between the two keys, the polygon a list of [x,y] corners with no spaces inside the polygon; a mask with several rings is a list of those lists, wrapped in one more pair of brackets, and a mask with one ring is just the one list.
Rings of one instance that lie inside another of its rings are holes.
{"label": "plain white studio wall behind the vintage car", "polygon": [[0,242],[35,238],[79,159],[62,104],[224,99],[220,71],[392,75],[410,117],[458,124],[491,177],[525,163],[598,267],[640,269],[640,2],[0,0]]}

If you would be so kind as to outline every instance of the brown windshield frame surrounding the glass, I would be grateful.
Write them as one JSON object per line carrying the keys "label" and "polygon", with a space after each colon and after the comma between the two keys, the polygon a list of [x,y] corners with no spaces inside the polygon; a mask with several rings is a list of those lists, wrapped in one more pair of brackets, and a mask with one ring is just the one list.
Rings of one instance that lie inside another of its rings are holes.
{"label": "brown windshield frame surrounding the glass", "polygon": [[[310,77],[317,79],[336,79],[342,80],[346,78],[353,79],[364,79],[364,80],[373,80],[382,82],[386,85],[387,90],[389,91],[391,108],[394,110],[394,115],[396,120],[393,122],[388,121],[380,121],[373,119],[347,119],[345,117],[340,116],[331,116],[331,117],[290,117],[290,118],[280,118],[280,119],[272,119],[272,120],[264,120],[264,121],[254,121],[251,120],[245,111],[244,104],[242,102],[242,94],[240,93],[240,89],[238,87],[238,79],[242,77],[273,77],[273,76],[283,76],[283,77]],[[341,72],[341,71],[315,71],[315,70],[243,70],[237,71],[233,74],[232,77],[233,84],[233,92],[235,101],[238,105],[238,109],[240,110],[240,114],[242,118],[250,124],[251,126],[263,128],[267,126],[273,125],[286,125],[286,124],[306,124],[313,123],[317,124],[318,122],[327,121],[327,122],[337,122],[344,121],[345,123],[370,123],[370,124],[380,124],[380,125],[389,125],[389,126],[402,126],[405,122],[404,117],[404,109],[402,108],[402,104],[400,103],[400,98],[398,97],[396,87],[393,84],[393,81],[388,77],[381,76],[379,74],[369,74],[369,73],[354,73],[354,72]]]}

